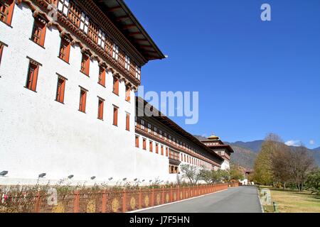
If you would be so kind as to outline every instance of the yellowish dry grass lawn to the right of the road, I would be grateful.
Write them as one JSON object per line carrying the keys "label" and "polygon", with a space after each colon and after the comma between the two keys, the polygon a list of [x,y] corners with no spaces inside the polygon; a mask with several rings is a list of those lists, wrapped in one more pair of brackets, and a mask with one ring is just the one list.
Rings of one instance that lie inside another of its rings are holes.
{"label": "yellowish dry grass lawn to the right of the road", "polygon": [[[297,192],[265,187],[271,191],[271,201],[275,201],[279,213],[320,213],[320,196],[311,192]],[[273,206],[264,206],[265,212],[273,212]]]}

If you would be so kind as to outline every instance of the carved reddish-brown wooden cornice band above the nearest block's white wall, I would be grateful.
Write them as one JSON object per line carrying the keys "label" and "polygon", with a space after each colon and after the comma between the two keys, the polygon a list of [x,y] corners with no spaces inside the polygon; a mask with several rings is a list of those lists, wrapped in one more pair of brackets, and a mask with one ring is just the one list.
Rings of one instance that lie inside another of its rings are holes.
{"label": "carved reddish-brown wooden cornice band above the nearest block's white wall", "polygon": [[[61,16],[59,12],[57,16],[58,20],[53,21],[53,18],[48,16],[48,6],[50,4],[48,4],[47,1],[16,0],[16,4],[22,3],[26,4],[31,9],[33,15],[41,15],[43,18],[46,18],[46,20],[48,20],[46,21],[46,26],[48,28],[50,28],[51,26],[55,26],[58,29],[60,36],[68,35],[68,37],[72,40],[71,45],[79,45],[81,52],[87,52],[90,55],[91,59],[96,59],[99,64],[106,65],[107,70],[110,70],[112,74],[115,74],[116,77],[119,77],[119,79],[124,80],[124,82],[132,84],[132,87],[134,87],[135,91],[137,91],[137,87],[139,87],[141,83],[139,79],[132,76],[132,74],[127,72],[127,70],[124,70],[118,62],[116,62],[112,57],[107,55],[107,53],[104,50],[102,50],[102,48],[100,48],[96,43],[93,43],[92,40],[90,40],[90,38],[88,38],[81,31],[79,31],[79,29],[76,28],[72,23],[70,23],[70,21],[68,21],[64,16]],[[92,4],[91,1],[90,3]]]}

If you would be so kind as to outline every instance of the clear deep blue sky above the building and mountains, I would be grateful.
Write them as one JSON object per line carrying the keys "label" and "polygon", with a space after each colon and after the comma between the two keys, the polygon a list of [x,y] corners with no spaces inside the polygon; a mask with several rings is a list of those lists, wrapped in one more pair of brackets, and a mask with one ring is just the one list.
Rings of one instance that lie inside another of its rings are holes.
{"label": "clear deep blue sky above the building and mountains", "polygon": [[[198,91],[197,135],[279,134],[320,146],[320,1],[126,0],[166,60],[142,69],[145,91]],[[260,6],[272,7],[262,22]],[[314,144],[310,143],[314,141]]]}

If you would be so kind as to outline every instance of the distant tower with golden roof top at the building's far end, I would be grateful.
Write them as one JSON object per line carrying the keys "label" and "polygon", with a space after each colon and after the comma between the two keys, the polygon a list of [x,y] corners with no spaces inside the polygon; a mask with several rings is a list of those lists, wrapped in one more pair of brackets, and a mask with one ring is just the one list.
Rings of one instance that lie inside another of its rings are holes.
{"label": "distant tower with golden roof top at the building's far end", "polygon": [[217,153],[220,157],[223,157],[224,161],[221,165],[221,170],[230,169],[230,156],[231,153],[234,153],[234,150],[230,145],[223,143],[223,141],[215,135],[211,135],[208,137],[208,140],[203,140],[202,143]]}

